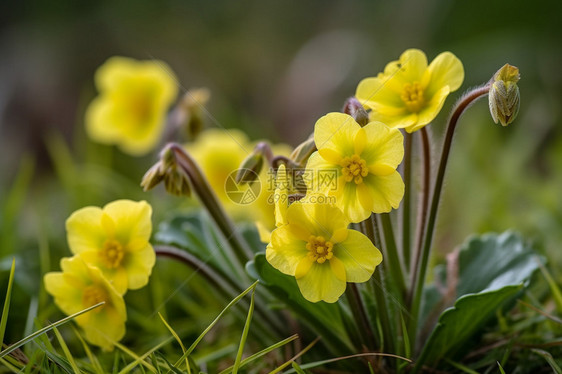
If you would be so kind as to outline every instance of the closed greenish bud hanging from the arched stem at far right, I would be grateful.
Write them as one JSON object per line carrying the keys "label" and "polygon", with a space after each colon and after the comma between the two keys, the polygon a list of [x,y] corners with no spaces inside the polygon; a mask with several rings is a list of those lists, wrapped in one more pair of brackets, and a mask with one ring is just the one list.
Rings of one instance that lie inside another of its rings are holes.
{"label": "closed greenish bud hanging from the arched stem at far right", "polygon": [[520,101],[517,86],[519,79],[519,69],[509,64],[505,64],[494,74],[488,100],[495,123],[499,121],[502,126],[507,126],[517,117]]}

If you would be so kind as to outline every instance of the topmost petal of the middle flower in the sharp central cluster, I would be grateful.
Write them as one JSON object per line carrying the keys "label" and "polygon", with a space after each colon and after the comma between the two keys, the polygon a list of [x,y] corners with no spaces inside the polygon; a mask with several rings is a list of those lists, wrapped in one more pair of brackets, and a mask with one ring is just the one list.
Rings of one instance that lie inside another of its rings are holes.
{"label": "topmost petal of the middle flower in the sharp central cluster", "polygon": [[328,113],[314,126],[316,148],[330,148],[341,155],[353,154],[355,134],[361,126],[350,115]]}

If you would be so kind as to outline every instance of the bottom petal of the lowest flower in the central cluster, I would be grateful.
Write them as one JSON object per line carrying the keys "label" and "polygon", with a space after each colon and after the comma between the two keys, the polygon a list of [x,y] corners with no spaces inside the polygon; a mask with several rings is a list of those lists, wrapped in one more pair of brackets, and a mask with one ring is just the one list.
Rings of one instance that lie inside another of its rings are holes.
{"label": "bottom petal of the lowest flower in the central cluster", "polygon": [[330,265],[323,263],[314,264],[304,277],[297,279],[297,285],[310,302],[335,303],[345,291],[346,283],[334,274]]}

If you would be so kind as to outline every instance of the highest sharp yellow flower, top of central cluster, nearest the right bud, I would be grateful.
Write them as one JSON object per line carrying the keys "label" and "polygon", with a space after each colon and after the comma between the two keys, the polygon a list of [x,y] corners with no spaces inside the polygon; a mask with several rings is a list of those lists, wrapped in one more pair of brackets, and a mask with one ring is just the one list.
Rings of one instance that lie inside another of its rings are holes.
{"label": "highest sharp yellow flower, top of central cluster, nearest the right bud", "polygon": [[377,77],[365,78],[355,96],[372,109],[371,121],[411,133],[430,123],[439,113],[449,93],[464,79],[461,61],[443,52],[429,66],[425,53],[408,49],[400,60],[392,61]]}

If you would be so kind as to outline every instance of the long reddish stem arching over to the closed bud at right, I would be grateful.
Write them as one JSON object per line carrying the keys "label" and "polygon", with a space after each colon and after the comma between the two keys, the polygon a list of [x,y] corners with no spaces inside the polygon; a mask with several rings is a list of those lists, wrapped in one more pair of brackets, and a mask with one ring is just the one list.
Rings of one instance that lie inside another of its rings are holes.
{"label": "long reddish stem arching over to the closed bud at right", "polygon": [[[449,160],[449,152],[451,150],[451,145],[453,143],[453,135],[455,133],[455,128],[457,127],[458,120],[464,111],[478,98],[486,95],[490,89],[489,84],[485,84],[481,87],[477,87],[467,94],[462,96],[459,101],[454,106],[451,117],[449,118],[449,124],[447,127],[447,132],[445,134],[445,140],[443,142],[443,150],[441,151],[441,159],[439,161],[439,168],[437,169],[437,176],[435,178],[435,185],[433,187],[433,197],[431,199],[431,207],[429,211],[429,216],[427,219],[427,231],[425,235],[424,244],[421,250],[420,258],[421,261],[414,264],[414,284],[413,287],[413,301],[412,301],[412,319],[410,326],[410,333],[413,337],[417,333],[417,324],[419,319],[420,304],[423,293],[423,286],[425,283],[425,275],[427,272],[427,265],[429,261],[429,254],[431,250],[431,244],[433,241],[433,232],[435,229],[435,221],[437,219],[437,210],[439,208],[439,199],[441,197],[441,190],[443,187],[443,180],[445,177],[445,169],[447,168],[447,161]],[[411,340],[415,342],[414,339]]]}

